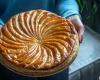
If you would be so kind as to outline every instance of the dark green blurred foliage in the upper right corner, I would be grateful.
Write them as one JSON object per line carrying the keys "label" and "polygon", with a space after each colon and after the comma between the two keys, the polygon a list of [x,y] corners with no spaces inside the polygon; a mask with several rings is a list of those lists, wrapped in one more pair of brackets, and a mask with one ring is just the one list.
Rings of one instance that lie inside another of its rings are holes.
{"label": "dark green blurred foliage in the upper right corner", "polygon": [[100,0],[77,0],[84,24],[100,34]]}

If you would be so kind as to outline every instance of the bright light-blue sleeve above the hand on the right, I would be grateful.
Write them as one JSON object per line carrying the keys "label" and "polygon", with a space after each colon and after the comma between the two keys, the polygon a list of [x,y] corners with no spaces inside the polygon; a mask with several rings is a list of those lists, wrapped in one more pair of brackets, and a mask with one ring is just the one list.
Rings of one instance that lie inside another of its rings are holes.
{"label": "bright light-blue sleeve above the hand on the right", "polygon": [[64,18],[79,15],[79,7],[76,0],[58,0],[56,10],[57,13]]}

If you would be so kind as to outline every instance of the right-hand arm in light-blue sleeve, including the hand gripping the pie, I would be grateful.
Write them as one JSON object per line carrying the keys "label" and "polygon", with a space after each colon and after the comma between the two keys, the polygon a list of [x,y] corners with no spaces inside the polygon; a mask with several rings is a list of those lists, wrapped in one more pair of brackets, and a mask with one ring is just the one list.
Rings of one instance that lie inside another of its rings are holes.
{"label": "right-hand arm in light-blue sleeve, including the hand gripping the pie", "polygon": [[81,43],[83,40],[84,25],[80,19],[79,8],[76,0],[57,0],[56,10],[60,16],[69,19],[74,24]]}

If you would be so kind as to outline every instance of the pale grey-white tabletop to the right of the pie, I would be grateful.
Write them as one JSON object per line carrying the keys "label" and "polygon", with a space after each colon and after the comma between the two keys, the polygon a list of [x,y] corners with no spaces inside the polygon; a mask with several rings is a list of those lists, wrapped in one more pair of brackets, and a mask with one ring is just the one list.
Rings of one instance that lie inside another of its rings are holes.
{"label": "pale grey-white tabletop to the right of the pie", "polygon": [[69,74],[82,69],[98,59],[100,59],[100,35],[97,35],[87,27],[78,55],[70,65]]}

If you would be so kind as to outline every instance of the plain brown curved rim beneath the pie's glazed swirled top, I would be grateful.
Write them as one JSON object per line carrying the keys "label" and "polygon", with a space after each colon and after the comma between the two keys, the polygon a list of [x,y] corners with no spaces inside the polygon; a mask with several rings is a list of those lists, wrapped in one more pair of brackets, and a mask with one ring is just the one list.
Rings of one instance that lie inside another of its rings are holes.
{"label": "plain brown curved rim beneath the pie's glazed swirled top", "polygon": [[[11,70],[14,73],[23,75],[23,76],[29,76],[29,77],[45,77],[45,76],[51,76],[54,74],[57,74],[65,69],[68,68],[68,66],[74,61],[74,59],[77,56],[77,53],[74,53],[72,55],[69,56],[69,58],[67,58],[67,60],[65,60],[63,63],[61,63],[60,65],[49,69],[49,70],[37,70],[37,71],[33,71],[28,69],[28,72],[24,72],[25,68],[20,68],[17,67],[16,65],[11,64],[8,60],[6,60],[5,58],[3,58],[3,56],[0,54],[0,63],[5,66],[6,68],[8,68],[9,70]],[[21,71],[23,69],[23,71]]]}

